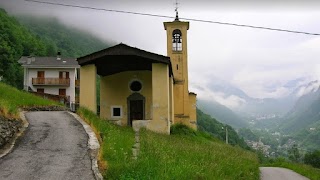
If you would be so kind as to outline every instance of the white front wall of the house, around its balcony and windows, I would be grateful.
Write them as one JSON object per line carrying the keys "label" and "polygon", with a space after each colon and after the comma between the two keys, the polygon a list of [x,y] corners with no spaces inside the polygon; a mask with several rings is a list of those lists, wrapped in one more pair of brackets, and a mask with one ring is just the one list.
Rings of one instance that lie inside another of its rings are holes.
{"label": "white front wall of the house, around its balcony and windows", "polygon": [[[32,78],[36,78],[38,71],[45,71],[45,78],[59,78],[60,71],[69,72],[70,86],[33,86]],[[45,93],[59,95],[59,89],[66,89],[66,95],[70,96],[70,101],[75,101],[75,68],[28,68],[25,75],[28,77],[25,79],[25,85],[29,86],[33,91],[37,91],[37,88],[43,88]]]}

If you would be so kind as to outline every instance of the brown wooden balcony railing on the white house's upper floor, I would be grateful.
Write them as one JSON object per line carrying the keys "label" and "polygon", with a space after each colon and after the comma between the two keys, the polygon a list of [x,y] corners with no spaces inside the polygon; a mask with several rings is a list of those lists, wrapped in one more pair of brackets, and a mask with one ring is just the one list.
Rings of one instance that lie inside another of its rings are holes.
{"label": "brown wooden balcony railing on the white house's upper floor", "polygon": [[70,86],[68,78],[32,78],[32,85],[38,86]]}

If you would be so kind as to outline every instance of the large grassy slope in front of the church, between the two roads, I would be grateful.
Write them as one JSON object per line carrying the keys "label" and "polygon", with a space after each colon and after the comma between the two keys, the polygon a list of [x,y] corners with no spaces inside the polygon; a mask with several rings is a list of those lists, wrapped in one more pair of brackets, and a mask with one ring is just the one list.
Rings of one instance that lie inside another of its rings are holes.
{"label": "large grassy slope in front of the church, between the two roads", "polygon": [[144,130],[140,156],[132,160],[131,128],[112,125],[85,109],[78,113],[103,137],[101,158],[108,179],[259,179],[254,153],[192,136]]}

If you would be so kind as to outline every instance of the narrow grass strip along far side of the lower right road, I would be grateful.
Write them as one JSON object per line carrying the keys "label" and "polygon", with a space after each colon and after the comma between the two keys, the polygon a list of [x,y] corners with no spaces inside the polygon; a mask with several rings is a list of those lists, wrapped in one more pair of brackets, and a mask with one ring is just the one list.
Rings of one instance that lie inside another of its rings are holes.
{"label": "narrow grass strip along far side of the lower right road", "polygon": [[306,164],[299,164],[299,163],[293,163],[288,162],[284,158],[278,158],[274,161],[263,164],[265,167],[283,167],[287,169],[291,169],[292,171],[295,171],[311,180],[319,180],[320,179],[320,169],[314,168],[310,165]]}

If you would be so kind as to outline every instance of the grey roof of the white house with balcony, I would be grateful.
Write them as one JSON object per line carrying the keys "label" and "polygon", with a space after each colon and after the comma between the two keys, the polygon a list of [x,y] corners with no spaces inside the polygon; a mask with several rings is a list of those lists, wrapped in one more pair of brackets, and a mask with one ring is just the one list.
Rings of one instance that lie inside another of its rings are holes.
{"label": "grey roof of the white house with balcony", "polygon": [[80,67],[76,58],[28,57],[22,56],[18,61],[24,67]]}

